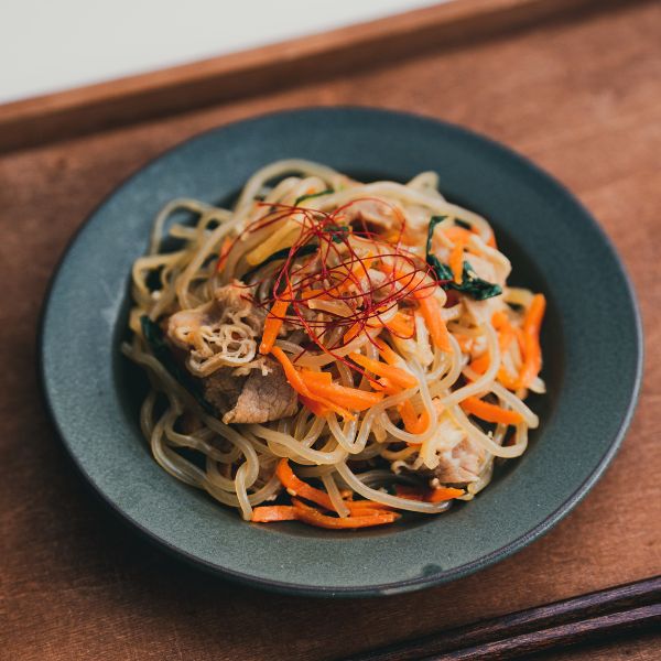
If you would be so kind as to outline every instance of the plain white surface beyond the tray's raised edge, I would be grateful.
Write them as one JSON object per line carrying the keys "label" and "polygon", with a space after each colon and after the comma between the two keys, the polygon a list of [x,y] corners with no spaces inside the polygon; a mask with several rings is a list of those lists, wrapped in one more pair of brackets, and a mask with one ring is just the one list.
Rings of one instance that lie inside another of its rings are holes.
{"label": "plain white surface beyond the tray's raised edge", "polygon": [[0,0],[0,102],[436,3],[438,0]]}

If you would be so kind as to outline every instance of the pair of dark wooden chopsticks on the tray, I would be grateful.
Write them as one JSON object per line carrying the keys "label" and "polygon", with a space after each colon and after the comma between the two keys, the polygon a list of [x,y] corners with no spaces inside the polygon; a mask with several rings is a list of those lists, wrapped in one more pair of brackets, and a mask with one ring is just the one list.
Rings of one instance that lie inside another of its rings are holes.
{"label": "pair of dark wooden chopsticks on the tray", "polygon": [[402,641],[349,659],[512,659],[657,624],[661,624],[661,576]]}

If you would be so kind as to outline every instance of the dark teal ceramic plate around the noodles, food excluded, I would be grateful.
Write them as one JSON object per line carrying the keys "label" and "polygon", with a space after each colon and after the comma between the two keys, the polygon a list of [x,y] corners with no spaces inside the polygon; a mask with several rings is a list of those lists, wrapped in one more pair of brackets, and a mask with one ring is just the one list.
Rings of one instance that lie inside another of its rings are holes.
{"label": "dark teal ceramic plate around the noodles, food excluded", "polygon": [[[119,354],[129,271],[154,214],[175,196],[229,201],[278,159],[358,178],[441,176],[449,199],[489,218],[513,282],[549,300],[541,427],[473,502],[388,530],[333,532],[245,523],[165,474],[138,427],[142,376]],[[641,332],[610,243],[554,180],[464,129],[369,109],[313,109],[195,138],[121,185],[85,224],[54,279],[41,335],[45,395],[94,488],[155,542],[202,567],[312,595],[388,595],[451,581],[522,549],[565,516],[613,459],[631,418]]]}

